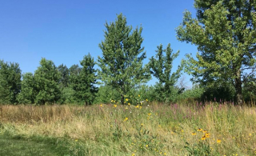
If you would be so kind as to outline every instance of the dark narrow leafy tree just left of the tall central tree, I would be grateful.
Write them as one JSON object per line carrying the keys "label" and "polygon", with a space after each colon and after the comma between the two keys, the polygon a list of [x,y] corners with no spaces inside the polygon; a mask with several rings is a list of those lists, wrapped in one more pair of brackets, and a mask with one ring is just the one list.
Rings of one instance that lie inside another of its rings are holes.
{"label": "dark narrow leafy tree just left of the tall central tree", "polygon": [[79,103],[86,103],[86,105],[90,105],[94,102],[95,95],[98,91],[98,88],[94,86],[96,82],[96,70],[94,69],[94,58],[90,56],[90,54],[84,56],[83,60],[80,62],[82,68],[79,73],[78,66],[74,66],[74,69],[71,70],[74,72],[71,75],[72,78],[72,88],[74,90],[74,98]]}

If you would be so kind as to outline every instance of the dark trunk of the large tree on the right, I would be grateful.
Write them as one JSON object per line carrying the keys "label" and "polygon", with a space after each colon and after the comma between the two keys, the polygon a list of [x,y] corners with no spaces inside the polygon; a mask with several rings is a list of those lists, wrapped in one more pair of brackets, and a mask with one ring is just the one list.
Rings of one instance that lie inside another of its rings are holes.
{"label": "dark trunk of the large tree on the right", "polygon": [[238,105],[242,105],[242,80],[241,70],[238,70],[236,78],[234,80],[235,86],[235,101]]}

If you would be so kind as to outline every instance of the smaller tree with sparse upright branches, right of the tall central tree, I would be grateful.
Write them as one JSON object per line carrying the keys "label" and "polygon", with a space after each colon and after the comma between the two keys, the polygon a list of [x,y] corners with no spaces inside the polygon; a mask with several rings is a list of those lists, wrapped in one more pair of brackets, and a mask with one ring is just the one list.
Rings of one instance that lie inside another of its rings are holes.
{"label": "smaller tree with sparse upright branches, right of the tall central tree", "polygon": [[171,74],[173,61],[178,57],[179,51],[173,54],[170,44],[168,44],[165,50],[162,49],[161,44],[156,52],[156,56],[150,58],[150,72],[159,80],[159,83],[156,85],[158,100],[162,102],[169,101],[170,95],[174,94],[174,85],[181,76],[182,66],[178,66],[178,70]]}

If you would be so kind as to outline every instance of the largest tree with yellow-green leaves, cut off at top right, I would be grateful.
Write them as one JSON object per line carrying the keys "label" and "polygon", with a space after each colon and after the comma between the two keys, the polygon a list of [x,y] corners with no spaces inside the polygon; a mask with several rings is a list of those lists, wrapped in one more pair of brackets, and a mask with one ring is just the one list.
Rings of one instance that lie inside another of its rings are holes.
{"label": "largest tree with yellow-green leaves, cut off at top right", "polygon": [[177,29],[178,40],[200,52],[198,60],[187,55],[187,69],[203,85],[233,84],[236,102],[242,104],[243,79],[256,69],[256,2],[195,0],[194,6],[198,18],[186,11]]}

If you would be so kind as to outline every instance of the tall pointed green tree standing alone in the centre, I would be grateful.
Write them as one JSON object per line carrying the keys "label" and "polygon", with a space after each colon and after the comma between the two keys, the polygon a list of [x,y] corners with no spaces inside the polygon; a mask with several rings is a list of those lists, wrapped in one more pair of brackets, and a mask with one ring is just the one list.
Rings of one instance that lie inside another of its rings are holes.
{"label": "tall pointed green tree standing alone in the centre", "polygon": [[121,94],[121,102],[136,86],[150,79],[142,61],[146,52],[142,47],[142,27],[132,31],[126,17],[118,15],[115,22],[106,22],[105,40],[99,44],[102,57],[98,57],[99,78]]}

